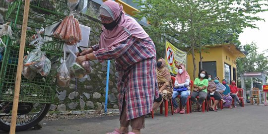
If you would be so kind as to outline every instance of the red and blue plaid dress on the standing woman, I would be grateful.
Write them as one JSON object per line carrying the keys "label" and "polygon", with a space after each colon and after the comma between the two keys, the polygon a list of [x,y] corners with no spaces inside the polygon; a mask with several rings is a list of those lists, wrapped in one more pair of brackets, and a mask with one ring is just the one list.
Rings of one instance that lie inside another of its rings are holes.
{"label": "red and blue plaid dress on the standing woman", "polygon": [[159,97],[155,71],[156,51],[152,40],[149,37],[133,37],[110,48],[99,49],[98,45],[92,48],[98,60],[116,61],[119,110],[122,113],[125,95],[127,120],[150,113],[154,96]]}

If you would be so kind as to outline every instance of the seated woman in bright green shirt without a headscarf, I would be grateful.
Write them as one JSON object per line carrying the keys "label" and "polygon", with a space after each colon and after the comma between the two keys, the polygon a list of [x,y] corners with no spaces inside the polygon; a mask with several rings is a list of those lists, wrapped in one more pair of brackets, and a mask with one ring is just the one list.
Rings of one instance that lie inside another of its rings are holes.
{"label": "seated woman in bright green shirt without a headscarf", "polygon": [[[191,95],[191,100],[193,103],[197,104],[195,111],[201,112],[201,106],[207,95],[207,86],[208,86],[208,74],[206,70],[201,70],[199,72],[198,78],[195,79],[194,89]],[[197,101],[197,96],[199,100]]]}

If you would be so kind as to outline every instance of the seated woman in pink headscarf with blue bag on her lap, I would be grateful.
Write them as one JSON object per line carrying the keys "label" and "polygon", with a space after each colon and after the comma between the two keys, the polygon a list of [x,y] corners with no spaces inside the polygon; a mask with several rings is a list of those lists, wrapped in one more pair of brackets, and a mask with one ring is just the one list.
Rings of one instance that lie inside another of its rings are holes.
{"label": "seated woman in pink headscarf with blue bag on her lap", "polygon": [[[187,98],[190,95],[190,76],[185,70],[184,66],[178,67],[178,73],[175,77],[174,91],[172,94],[172,103],[175,108],[174,113],[185,114],[185,106],[187,103]],[[181,95],[182,109],[180,109],[176,98]]]}

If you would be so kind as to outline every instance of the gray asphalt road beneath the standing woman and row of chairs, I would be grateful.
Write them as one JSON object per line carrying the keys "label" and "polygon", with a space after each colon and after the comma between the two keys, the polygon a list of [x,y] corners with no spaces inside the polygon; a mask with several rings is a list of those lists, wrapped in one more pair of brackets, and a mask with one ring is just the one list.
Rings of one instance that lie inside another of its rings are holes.
{"label": "gray asphalt road beneath the standing woman and row of chairs", "polygon": [[[42,121],[41,130],[16,134],[105,134],[119,126],[119,116],[91,119]],[[8,134],[0,131],[0,134]],[[142,134],[268,134],[268,106],[246,105],[244,108],[218,112],[156,114],[146,118]]]}

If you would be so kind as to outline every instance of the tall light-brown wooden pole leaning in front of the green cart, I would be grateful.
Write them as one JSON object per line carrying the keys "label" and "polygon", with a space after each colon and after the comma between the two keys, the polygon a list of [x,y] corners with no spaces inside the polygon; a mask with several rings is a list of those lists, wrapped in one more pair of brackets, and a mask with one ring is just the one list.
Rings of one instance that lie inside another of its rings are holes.
{"label": "tall light-brown wooden pole leaning in front of the green cart", "polygon": [[19,47],[19,59],[18,59],[18,67],[17,67],[16,81],[15,81],[15,91],[14,91],[13,106],[12,106],[11,127],[10,127],[9,134],[15,134],[15,131],[16,131],[19,90],[20,90],[21,72],[22,72],[22,67],[23,67],[22,62],[23,62],[23,55],[24,55],[24,48],[25,48],[25,38],[26,38],[26,32],[27,32],[29,6],[30,6],[30,0],[25,0],[22,31],[21,31],[21,38],[20,38],[20,47]]}

